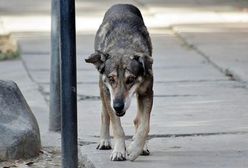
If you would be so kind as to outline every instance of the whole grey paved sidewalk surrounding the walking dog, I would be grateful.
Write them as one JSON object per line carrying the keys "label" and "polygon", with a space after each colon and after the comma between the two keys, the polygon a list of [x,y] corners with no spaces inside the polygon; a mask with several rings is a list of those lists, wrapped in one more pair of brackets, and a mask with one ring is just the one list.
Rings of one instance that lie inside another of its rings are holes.
{"label": "whole grey paved sidewalk surrounding the walking dog", "polygon": [[[248,2],[243,0],[128,1],[144,14],[154,48],[151,155],[111,162],[111,151],[95,149],[101,107],[98,74],[83,60],[93,52],[104,11],[117,2],[77,1],[78,136],[86,167],[247,167]],[[49,3],[0,0],[5,9],[0,19],[22,52],[20,60],[0,62],[0,79],[20,87],[38,120],[43,147],[60,146],[60,135],[48,132],[47,125]],[[33,29],[28,24],[36,16],[42,26]],[[134,133],[132,103],[122,121],[127,137]]]}

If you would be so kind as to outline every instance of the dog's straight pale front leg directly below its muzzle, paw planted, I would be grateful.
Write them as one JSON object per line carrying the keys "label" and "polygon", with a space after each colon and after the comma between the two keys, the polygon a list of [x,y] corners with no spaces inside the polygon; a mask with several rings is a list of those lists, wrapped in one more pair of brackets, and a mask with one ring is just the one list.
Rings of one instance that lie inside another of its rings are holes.
{"label": "dog's straight pale front leg directly below its muzzle, paw planted", "polygon": [[115,140],[114,150],[110,155],[110,159],[112,161],[124,161],[126,160],[125,134],[121,127],[120,118],[113,114],[113,112],[110,113],[110,120]]}

